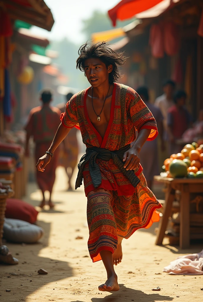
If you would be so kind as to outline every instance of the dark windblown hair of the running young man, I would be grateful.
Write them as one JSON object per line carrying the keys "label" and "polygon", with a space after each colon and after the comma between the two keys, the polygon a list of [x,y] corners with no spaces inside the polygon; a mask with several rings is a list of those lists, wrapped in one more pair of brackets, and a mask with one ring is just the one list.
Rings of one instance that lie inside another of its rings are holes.
{"label": "dark windblown hair of the running young man", "polygon": [[120,74],[119,66],[124,65],[126,57],[123,52],[116,52],[109,47],[106,42],[88,43],[83,44],[78,50],[79,57],[76,61],[76,68],[85,71],[85,60],[90,58],[98,58],[106,67],[113,66],[112,72],[109,73],[109,82],[114,83],[122,77]]}

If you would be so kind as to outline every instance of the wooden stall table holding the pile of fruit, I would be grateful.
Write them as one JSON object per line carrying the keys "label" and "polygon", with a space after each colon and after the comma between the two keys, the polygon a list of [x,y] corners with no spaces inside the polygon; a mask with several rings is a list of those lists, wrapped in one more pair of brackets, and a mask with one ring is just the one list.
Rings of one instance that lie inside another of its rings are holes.
{"label": "wooden stall table holding the pile of fruit", "polygon": [[181,191],[180,199],[180,247],[190,245],[190,193],[203,193],[203,178],[166,178],[154,176],[154,180],[166,184],[163,217],[159,222],[156,245],[162,244],[175,198],[175,190]]}

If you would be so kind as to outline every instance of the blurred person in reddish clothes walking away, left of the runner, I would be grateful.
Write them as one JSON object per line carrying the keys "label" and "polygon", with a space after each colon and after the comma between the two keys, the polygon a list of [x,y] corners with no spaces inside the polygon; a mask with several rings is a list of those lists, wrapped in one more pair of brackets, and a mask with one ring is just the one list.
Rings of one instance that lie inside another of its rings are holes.
{"label": "blurred person in reddish clothes walking away, left of the runner", "polygon": [[[25,144],[25,155],[29,156],[29,140],[33,137],[35,142],[35,159],[44,154],[49,148],[57,128],[60,124],[61,111],[58,108],[51,107],[50,102],[52,101],[52,92],[49,89],[43,90],[40,95],[41,106],[35,107],[30,111],[27,125],[25,126],[26,144]],[[50,192],[50,198],[48,205],[50,208],[54,207],[51,200],[51,194],[53,184],[55,181],[55,171],[58,164],[58,149],[56,149],[54,157],[52,159],[52,165],[47,166],[44,173],[37,171],[37,184],[42,191],[43,199],[40,203],[40,207],[43,208],[46,204],[44,192]]]}

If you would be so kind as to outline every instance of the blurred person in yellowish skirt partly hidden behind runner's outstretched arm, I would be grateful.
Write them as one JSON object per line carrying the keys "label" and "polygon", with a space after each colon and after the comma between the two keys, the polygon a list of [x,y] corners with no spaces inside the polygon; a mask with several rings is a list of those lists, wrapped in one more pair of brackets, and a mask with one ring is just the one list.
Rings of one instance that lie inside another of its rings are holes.
{"label": "blurred person in yellowish skirt partly hidden behind runner's outstretched arm", "polygon": [[[68,93],[66,95],[66,102],[68,102],[72,96],[72,93]],[[57,107],[61,112],[65,112],[66,110],[66,104],[58,105]],[[70,130],[66,138],[63,140],[59,156],[59,165],[65,168],[68,175],[68,191],[72,191],[71,179],[78,162],[77,131],[78,130],[75,127]]]}

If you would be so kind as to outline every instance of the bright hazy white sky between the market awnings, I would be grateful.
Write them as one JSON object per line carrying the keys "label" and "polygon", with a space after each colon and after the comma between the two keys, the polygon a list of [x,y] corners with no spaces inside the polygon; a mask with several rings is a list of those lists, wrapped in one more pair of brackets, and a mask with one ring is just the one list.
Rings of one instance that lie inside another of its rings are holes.
{"label": "bright hazy white sky between the market awnings", "polygon": [[33,26],[31,31],[50,40],[69,38],[73,42],[83,42],[82,20],[91,16],[94,10],[107,12],[119,0],[45,0],[55,20],[51,32]]}

